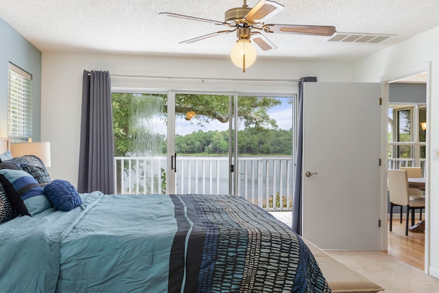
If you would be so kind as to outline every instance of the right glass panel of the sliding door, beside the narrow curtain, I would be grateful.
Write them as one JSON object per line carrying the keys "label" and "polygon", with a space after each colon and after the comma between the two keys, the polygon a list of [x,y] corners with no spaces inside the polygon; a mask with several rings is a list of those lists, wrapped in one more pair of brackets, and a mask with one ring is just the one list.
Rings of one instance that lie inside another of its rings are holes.
{"label": "right glass panel of the sliding door, beside the narrow curtain", "polygon": [[290,210],[293,98],[239,96],[237,194],[264,209]]}

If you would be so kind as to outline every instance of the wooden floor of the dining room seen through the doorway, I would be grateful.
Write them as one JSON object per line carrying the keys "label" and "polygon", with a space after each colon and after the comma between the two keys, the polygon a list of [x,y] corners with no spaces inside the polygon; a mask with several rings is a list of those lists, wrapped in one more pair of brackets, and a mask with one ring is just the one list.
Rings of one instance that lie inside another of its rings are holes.
{"label": "wooden floor of the dining room seen through the doorway", "polygon": [[[419,219],[416,219],[419,220]],[[389,220],[388,220],[389,224]],[[392,232],[388,230],[388,255],[424,270],[424,233],[410,232],[405,236],[405,220],[399,222],[399,217],[392,220]]]}

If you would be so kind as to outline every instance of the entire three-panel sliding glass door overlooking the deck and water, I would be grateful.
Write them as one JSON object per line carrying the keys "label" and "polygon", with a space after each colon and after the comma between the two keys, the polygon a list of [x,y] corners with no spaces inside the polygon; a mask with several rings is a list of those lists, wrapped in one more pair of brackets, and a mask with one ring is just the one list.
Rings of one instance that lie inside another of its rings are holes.
{"label": "entire three-panel sliding glass door overlooking the deck and water", "polygon": [[265,209],[291,209],[293,101],[112,93],[116,192],[232,194]]}

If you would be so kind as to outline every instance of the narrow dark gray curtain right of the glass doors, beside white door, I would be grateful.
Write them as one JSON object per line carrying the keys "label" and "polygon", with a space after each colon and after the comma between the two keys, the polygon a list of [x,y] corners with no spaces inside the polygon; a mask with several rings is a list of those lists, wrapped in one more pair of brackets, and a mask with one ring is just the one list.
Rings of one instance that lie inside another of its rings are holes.
{"label": "narrow dark gray curtain right of the glass doors, beside white door", "polygon": [[292,209],[292,228],[302,236],[302,147],[303,147],[303,83],[317,82],[317,78],[300,78],[298,95],[298,123],[297,123],[297,145],[296,164],[294,165],[294,190]]}

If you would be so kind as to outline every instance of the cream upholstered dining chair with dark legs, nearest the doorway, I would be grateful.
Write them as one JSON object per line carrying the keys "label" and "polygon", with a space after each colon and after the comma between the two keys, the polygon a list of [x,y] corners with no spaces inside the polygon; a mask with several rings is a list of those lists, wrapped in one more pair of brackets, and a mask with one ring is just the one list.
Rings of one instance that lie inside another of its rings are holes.
{"label": "cream upholstered dining chair with dark legs, nearest the doorway", "polygon": [[405,214],[405,235],[409,231],[409,212],[412,211],[412,226],[414,225],[414,211],[420,209],[419,220],[422,221],[422,209],[425,209],[425,198],[410,196],[407,171],[388,170],[389,198],[390,198],[390,231],[392,231],[393,207],[400,207],[399,222],[403,222],[403,207],[406,207]]}

